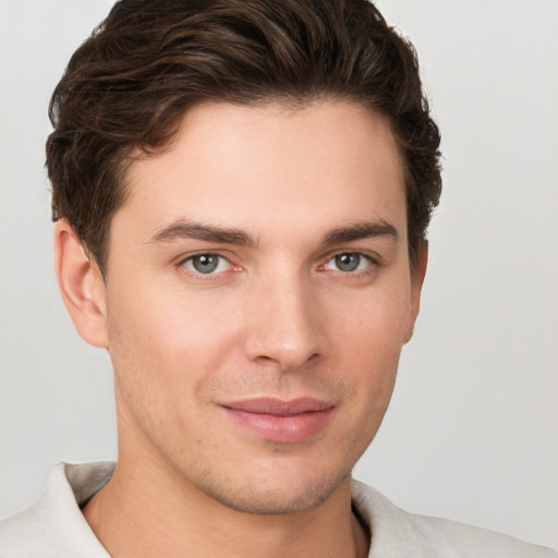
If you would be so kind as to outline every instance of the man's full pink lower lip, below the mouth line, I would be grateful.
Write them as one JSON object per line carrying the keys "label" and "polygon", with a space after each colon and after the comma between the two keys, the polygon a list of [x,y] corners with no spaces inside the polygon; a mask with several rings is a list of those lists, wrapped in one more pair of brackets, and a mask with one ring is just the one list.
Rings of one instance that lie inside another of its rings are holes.
{"label": "man's full pink lower lip, below the mouth line", "polygon": [[327,426],[333,413],[333,408],[291,416],[248,413],[227,407],[222,409],[238,424],[251,430],[259,438],[283,444],[303,441],[315,436]]}

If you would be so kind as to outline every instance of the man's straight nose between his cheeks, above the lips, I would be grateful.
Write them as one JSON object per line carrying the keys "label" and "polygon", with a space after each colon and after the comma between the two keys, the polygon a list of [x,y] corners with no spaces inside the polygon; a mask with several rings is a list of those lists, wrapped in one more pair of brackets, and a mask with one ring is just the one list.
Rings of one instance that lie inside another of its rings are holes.
{"label": "man's straight nose between his cheeks, above the lips", "polygon": [[319,298],[304,277],[262,280],[245,312],[248,360],[290,371],[325,353]]}

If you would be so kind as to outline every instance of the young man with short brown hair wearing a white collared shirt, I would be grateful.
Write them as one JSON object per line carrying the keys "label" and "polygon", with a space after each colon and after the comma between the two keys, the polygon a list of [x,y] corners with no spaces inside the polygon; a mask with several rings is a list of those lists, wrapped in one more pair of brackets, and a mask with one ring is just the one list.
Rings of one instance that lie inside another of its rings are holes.
{"label": "young man with short brown hair wearing a white collared shirt", "polygon": [[57,276],[111,356],[119,460],[57,469],[2,556],[554,555],[351,482],[440,193],[372,4],[123,0],[51,113]]}

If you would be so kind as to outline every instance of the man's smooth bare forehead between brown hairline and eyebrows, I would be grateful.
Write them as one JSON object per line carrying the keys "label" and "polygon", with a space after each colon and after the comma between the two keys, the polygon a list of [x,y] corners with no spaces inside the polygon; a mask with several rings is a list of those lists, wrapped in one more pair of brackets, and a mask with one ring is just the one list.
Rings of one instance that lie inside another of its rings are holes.
{"label": "man's smooth bare forehead between brown hairline and eyebrows", "polygon": [[[128,201],[145,234],[183,218],[242,228],[313,228],[380,218],[405,228],[404,174],[387,119],[355,102],[293,109],[202,104],[167,150],[140,157]],[[400,231],[404,236],[404,231]]]}

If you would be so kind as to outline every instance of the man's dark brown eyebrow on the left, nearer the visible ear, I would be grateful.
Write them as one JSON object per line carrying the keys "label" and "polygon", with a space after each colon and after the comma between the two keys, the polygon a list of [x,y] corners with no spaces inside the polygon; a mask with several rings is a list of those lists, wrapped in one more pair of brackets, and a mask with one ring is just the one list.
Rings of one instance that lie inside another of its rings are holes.
{"label": "man's dark brown eyebrow on the left, nearer the visible ear", "polygon": [[180,219],[158,231],[148,243],[163,243],[177,239],[196,239],[220,244],[254,246],[257,241],[240,229],[211,227]]}

